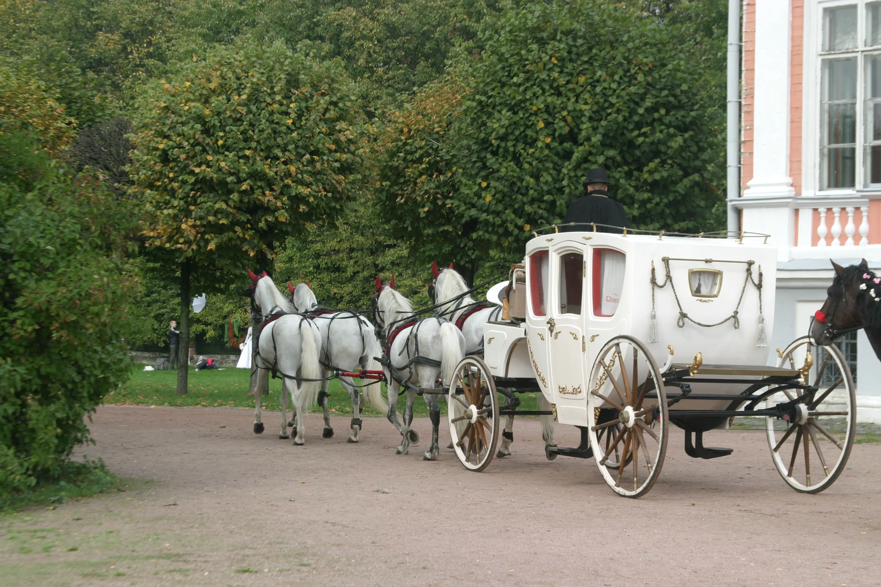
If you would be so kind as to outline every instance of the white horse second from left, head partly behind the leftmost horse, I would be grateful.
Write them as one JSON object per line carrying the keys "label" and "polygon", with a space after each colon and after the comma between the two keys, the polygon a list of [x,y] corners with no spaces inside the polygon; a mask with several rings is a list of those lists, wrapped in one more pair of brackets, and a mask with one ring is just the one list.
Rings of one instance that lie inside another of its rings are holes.
{"label": "white horse second from left, head partly behind the leftmost horse", "polygon": [[[374,325],[358,313],[344,310],[342,312],[325,311],[318,305],[315,293],[309,288],[308,283],[299,283],[296,287],[287,284],[291,292],[291,302],[296,312],[311,314],[309,316],[315,322],[315,326],[322,334],[322,375],[327,378],[322,381],[322,391],[318,393],[318,403],[324,411],[323,437],[333,436],[333,428],[330,426],[328,411],[328,385],[329,377],[333,371],[379,371],[380,363],[374,359],[382,354],[380,342],[376,339]],[[389,402],[382,397],[382,389],[379,381],[355,385],[351,377],[341,376],[339,380],[349,390],[352,399],[352,434],[348,442],[357,443],[358,433],[361,429],[361,410],[364,409],[364,400],[370,402],[381,413],[389,411]],[[360,393],[360,389],[364,393]]]}

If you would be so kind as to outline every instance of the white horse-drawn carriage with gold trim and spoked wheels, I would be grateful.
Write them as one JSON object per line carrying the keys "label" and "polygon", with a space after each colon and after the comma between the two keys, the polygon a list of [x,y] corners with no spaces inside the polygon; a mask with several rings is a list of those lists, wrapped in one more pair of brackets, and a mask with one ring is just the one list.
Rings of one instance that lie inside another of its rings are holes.
{"label": "white horse-drawn carriage with gold trim and spoked wheels", "polygon": [[[527,244],[524,280],[512,271],[511,319],[486,322],[484,356],[455,368],[448,421],[464,466],[492,460],[501,416],[552,415],[581,429],[581,445],[549,443],[549,459],[594,457],[615,492],[639,497],[661,473],[670,423],[690,456],[713,459],[731,450],[704,446],[703,433],[751,417],[790,487],[835,481],[853,443],[854,382],[839,349],[807,336],[767,364],[773,246],[557,228]],[[515,394],[529,392],[551,409],[518,410]]]}

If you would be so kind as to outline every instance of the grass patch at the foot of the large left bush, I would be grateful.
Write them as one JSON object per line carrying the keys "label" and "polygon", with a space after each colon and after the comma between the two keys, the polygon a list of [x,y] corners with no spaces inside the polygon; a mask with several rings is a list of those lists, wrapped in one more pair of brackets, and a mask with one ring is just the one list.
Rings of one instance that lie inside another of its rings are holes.
{"label": "grass patch at the foot of the large left bush", "polygon": [[0,514],[34,505],[54,508],[56,503],[69,499],[120,490],[120,480],[107,471],[103,461],[69,461],[50,478],[38,481],[26,491],[0,496]]}

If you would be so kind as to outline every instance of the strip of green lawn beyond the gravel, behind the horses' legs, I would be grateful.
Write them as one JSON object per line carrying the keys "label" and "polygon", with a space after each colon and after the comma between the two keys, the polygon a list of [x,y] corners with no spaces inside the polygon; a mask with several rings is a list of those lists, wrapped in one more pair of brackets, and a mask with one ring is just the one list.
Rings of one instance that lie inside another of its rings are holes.
{"label": "strip of green lawn beyond the gravel, behind the horses' legs", "polygon": [[[254,407],[254,398],[248,395],[248,369],[226,368],[223,371],[198,371],[190,368],[189,392],[177,395],[177,371],[143,371],[144,366],[137,366],[126,385],[104,398],[106,404],[145,405],[145,406],[232,406]],[[385,385],[383,384],[383,390]],[[331,415],[352,415],[352,400],[343,385],[336,379],[330,381],[328,388],[328,408]],[[263,408],[280,409],[278,403],[281,393],[281,380],[270,379],[270,396],[263,397]],[[538,400],[532,393],[520,396],[521,409],[538,409]],[[403,410],[404,400],[398,401],[397,408]],[[446,415],[446,398],[441,398],[441,414]],[[313,406],[311,412],[321,412],[321,408]],[[361,413],[364,416],[380,416],[372,407],[366,407]],[[413,415],[427,416],[426,402],[417,398],[413,404]]]}

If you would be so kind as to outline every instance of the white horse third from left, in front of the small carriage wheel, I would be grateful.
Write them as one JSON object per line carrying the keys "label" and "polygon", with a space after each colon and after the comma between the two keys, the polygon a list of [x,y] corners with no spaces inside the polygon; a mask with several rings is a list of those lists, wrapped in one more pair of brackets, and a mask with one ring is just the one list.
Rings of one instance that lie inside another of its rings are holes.
{"label": "white horse third from left, in front of the small carriage wheel", "polygon": [[[394,289],[395,278],[391,283],[382,283],[376,278],[374,297],[374,319],[381,327],[386,339],[389,364],[383,365],[389,385],[389,422],[403,437],[397,447],[397,454],[407,454],[410,444],[418,442],[418,434],[410,428],[413,421],[413,401],[416,390],[407,387],[407,403],[403,410],[403,425],[397,419],[397,396],[403,381],[424,388],[448,387],[455,375],[455,366],[465,356],[465,337],[451,322],[441,318],[414,320],[411,326],[403,327],[411,319],[413,305]],[[403,327],[403,328],[402,328]],[[389,340],[391,338],[391,340]],[[389,367],[393,367],[392,371]],[[393,376],[400,375],[400,379]],[[441,408],[437,395],[426,393],[422,396],[428,405],[433,432],[432,445],[424,459],[438,458],[438,427],[441,423]],[[394,399],[394,400],[393,400]]]}

